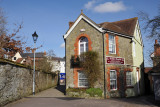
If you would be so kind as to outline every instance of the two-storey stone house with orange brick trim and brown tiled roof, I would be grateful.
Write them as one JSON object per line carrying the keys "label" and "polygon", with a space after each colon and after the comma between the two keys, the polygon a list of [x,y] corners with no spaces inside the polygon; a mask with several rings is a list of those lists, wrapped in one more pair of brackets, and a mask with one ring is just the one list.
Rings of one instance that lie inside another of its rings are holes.
{"label": "two-storey stone house with orange brick trim and brown tiled roof", "polygon": [[63,36],[66,56],[66,89],[88,88],[82,68],[71,66],[71,57],[86,51],[99,54],[101,78],[94,85],[107,98],[144,93],[143,41],[138,18],[95,23],[83,11]]}

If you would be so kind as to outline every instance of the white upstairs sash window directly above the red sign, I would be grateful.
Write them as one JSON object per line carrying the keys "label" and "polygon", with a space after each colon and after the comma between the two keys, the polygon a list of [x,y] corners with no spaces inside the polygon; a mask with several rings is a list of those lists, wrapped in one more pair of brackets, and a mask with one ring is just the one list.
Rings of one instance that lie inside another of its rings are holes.
{"label": "white upstairs sash window directly above the red sign", "polygon": [[116,53],[115,36],[109,35],[109,53]]}

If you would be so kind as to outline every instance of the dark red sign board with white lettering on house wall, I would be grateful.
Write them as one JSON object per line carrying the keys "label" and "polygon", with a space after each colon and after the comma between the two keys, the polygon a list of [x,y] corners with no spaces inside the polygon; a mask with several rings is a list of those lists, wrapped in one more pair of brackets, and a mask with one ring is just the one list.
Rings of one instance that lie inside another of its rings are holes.
{"label": "dark red sign board with white lettering on house wall", "polygon": [[124,65],[124,58],[106,56],[106,64]]}

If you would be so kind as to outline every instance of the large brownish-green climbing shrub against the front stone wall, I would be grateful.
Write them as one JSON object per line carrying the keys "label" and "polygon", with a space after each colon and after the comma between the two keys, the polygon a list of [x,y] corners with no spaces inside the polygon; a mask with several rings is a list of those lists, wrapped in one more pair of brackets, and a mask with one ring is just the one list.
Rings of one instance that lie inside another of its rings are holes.
{"label": "large brownish-green climbing shrub against the front stone wall", "polygon": [[89,87],[93,88],[94,83],[101,75],[98,53],[95,51],[88,51],[81,54],[80,67],[83,68],[88,78]]}

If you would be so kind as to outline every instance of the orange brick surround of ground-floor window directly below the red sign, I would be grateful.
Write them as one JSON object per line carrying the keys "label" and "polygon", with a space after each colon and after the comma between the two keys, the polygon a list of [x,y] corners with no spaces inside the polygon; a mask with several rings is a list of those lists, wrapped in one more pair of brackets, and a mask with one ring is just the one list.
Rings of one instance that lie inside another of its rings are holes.
{"label": "orange brick surround of ground-floor window directly below the red sign", "polygon": [[120,84],[119,84],[119,68],[118,67],[107,67],[107,89],[110,91],[110,70],[116,70],[117,72],[117,90],[119,90]]}

